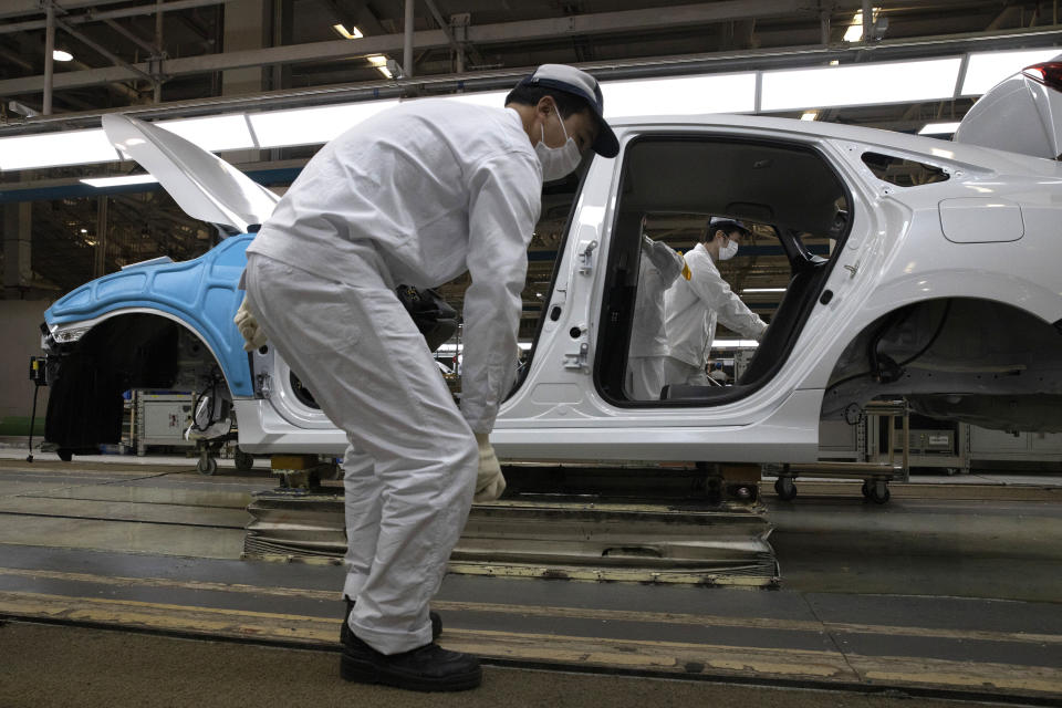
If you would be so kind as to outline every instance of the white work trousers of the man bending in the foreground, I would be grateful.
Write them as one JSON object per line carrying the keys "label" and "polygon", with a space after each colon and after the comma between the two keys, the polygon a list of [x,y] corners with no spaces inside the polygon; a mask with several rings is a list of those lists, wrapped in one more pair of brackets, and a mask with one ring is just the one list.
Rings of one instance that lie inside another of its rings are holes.
{"label": "white work trousers of the man bending in the foreground", "polygon": [[325,280],[250,254],[251,312],[346,433],[351,629],[384,654],[431,642],[428,601],[472,502],[479,451],[424,337],[375,258]]}

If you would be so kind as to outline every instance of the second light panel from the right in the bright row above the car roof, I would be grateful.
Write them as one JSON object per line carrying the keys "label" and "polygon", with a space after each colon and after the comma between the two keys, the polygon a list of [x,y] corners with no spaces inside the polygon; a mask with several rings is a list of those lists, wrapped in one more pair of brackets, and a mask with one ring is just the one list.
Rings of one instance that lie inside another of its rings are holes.
{"label": "second light panel from the right in the bright row above the car roof", "polygon": [[761,110],[794,111],[950,98],[962,60],[933,59],[763,72]]}

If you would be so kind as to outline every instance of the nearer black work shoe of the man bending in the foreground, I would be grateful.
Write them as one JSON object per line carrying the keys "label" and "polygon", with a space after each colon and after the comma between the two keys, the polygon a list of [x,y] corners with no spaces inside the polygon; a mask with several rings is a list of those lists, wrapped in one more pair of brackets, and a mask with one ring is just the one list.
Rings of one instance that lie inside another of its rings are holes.
{"label": "nearer black work shoe of the man bending in the foreground", "polygon": [[351,632],[343,641],[340,676],[406,690],[468,690],[482,683],[483,669],[475,656],[434,642],[402,654],[381,654]]}

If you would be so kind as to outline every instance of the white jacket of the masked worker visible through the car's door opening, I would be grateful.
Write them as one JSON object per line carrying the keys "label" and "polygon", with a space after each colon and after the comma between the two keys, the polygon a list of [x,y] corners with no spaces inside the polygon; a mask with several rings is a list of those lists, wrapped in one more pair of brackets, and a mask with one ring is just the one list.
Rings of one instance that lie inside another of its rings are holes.
{"label": "white jacket of the masked worker visible through the car's door opening", "polygon": [[670,356],[704,368],[717,322],[759,341],[767,323],[730,290],[704,243],[686,253],[686,264],[690,279],[679,279],[664,298]]}

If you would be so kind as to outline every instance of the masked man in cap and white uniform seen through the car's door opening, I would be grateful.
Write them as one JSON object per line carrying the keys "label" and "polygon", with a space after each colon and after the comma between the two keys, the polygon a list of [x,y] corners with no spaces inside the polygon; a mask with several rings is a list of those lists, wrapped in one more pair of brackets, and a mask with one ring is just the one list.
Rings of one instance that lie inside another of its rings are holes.
{"label": "masked man in cap and white uniform seen through the car's door opening", "polygon": [[717,322],[757,342],[763,336],[767,323],[730,290],[716,267],[717,261],[733,258],[741,238],[748,235],[742,222],[712,217],[705,239],[686,253],[690,279],[677,281],[665,295],[665,327],[670,348],[665,378],[669,385],[710,385],[705,366]]}

